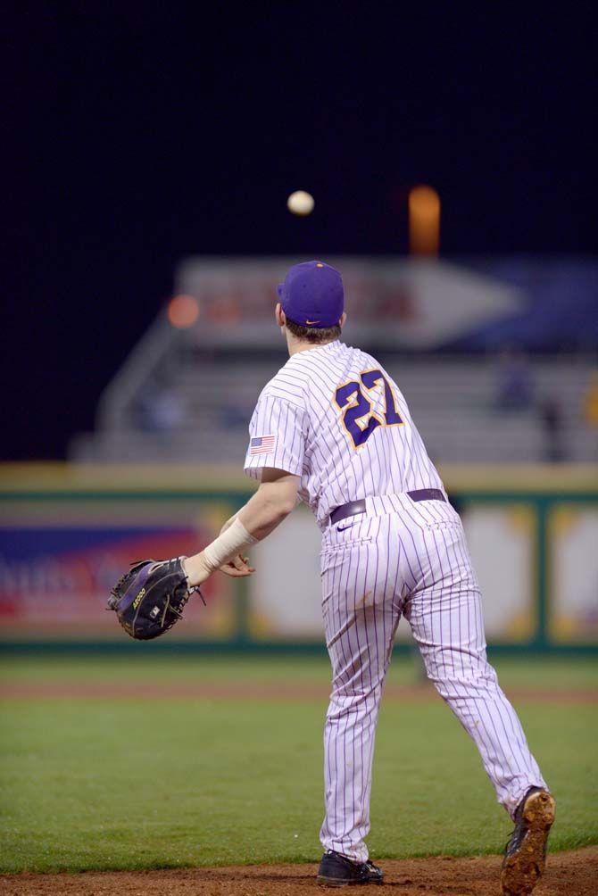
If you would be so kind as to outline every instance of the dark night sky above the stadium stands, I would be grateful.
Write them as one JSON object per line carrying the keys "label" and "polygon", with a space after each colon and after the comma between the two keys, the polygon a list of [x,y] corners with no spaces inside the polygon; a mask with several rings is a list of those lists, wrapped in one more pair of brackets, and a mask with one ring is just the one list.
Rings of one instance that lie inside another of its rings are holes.
{"label": "dark night sky above the stadium stands", "polygon": [[4,458],[92,426],[185,254],[404,253],[420,182],[445,254],[595,249],[593,4],[19,5]]}

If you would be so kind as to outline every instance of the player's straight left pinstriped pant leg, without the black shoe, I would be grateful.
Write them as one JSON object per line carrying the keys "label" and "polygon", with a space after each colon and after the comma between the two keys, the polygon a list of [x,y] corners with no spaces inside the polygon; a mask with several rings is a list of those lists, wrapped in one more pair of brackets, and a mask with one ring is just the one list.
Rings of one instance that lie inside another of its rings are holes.
{"label": "player's straight left pinstriped pant leg, without the black shoe", "polygon": [[325,722],[325,819],[320,840],[354,862],[368,849],[377,715],[400,610],[400,552],[391,518],[362,517],[322,554],[323,614],[333,687]]}

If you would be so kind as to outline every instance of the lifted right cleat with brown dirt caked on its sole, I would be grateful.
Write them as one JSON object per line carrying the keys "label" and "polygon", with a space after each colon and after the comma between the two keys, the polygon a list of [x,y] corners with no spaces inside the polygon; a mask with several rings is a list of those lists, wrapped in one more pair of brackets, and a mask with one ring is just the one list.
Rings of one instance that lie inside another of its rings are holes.
{"label": "lifted right cleat with brown dirt caked on its sole", "polygon": [[548,790],[530,788],[515,814],[515,830],[505,849],[500,883],[503,896],[526,896],[542,877],[555,802]]}

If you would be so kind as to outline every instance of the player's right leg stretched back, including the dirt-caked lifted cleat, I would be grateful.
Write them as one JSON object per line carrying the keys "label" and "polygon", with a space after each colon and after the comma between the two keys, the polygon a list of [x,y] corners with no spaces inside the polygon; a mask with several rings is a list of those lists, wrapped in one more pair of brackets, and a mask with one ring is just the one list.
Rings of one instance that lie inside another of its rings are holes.
{"label": "player's right leg stretched back, including the dirt-caked lifted cleat", "polygon": [[505,896],[523,896],[544,868],[554,799],[486,659],[481,595],[461,521],[443,507],[409,519],[420,580],[403,613],[429,678],[477,745],[498,801],[516,823],[501,884]]}

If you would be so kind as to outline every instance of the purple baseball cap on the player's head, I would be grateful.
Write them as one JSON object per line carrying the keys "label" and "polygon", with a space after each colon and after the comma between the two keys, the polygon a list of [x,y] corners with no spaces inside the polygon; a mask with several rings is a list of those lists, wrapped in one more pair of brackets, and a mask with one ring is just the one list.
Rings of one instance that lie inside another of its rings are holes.
{"label": "purple baseball cap on the player's head", "polygon": [[282,311],[293,323],[323,330],[342,317],[344,291],[340,273],[324,262],[302,262],[287,271],[276,292]]}

